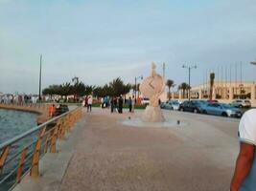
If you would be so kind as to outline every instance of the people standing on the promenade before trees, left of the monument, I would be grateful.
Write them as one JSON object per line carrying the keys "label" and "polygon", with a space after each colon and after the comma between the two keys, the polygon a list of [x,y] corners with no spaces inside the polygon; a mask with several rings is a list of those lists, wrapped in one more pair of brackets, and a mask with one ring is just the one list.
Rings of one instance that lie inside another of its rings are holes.
{"label": "people standing on the promenade before trees, left of the monument", "polygon": [[[85,96],[82,102],[82,105],[87,108],[87,112],[91,112],[92,108],[92,96]],[[105,96],[101,98],[101,108],[102,109],[109,109],[111,113],[119,113],[123,114],[124,105],[128,105],[128,112],[134,113],[135,107],[135,97],[129,96],[128,99],[124,99],[123,96]]]}

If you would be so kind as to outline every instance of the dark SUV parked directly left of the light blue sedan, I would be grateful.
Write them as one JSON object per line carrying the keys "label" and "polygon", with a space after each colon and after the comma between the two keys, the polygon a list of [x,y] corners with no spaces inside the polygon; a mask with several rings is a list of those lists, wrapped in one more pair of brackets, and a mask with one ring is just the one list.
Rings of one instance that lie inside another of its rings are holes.
{"label": "dark SUV parked directly left of the light blue sedan", "polygon": [[184,101],[179,106],[179,111],[187,111],[187,112],[194,112],[194,113],[202,113],[205,105],[205,101],[201,100],[191,100],[191,101]]}

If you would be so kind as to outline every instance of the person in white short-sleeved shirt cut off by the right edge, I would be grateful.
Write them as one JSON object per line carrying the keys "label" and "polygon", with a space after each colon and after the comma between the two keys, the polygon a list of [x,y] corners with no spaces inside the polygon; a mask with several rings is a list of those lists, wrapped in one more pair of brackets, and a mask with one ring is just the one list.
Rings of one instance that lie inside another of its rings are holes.
{"label": "person in white short-sleeved shirt cut off by the right edge", "polygon": [[256,109],[244,113],[239,124],[240,153],[230,191],[256,190]]}

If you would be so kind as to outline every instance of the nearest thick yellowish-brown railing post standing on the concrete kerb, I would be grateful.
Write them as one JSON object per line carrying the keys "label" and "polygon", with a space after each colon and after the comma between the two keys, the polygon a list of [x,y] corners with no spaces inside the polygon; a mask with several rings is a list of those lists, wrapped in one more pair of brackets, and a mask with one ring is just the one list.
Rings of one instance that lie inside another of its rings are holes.
{"label": "nearest thick yellowish-brown railing post standing on the concrete kerb", "polygon": [[40,131],[39,138],[37,139],[35,144],[35,151],[34,151],[34,156],[32,158],[32,168],[30,173],[32,177],[38,177],[39,175],[39,159],[40,159],[41,142],[42,142],[42,137],[45,134],[45,130],[46,130],[46,127],[44,127]]}

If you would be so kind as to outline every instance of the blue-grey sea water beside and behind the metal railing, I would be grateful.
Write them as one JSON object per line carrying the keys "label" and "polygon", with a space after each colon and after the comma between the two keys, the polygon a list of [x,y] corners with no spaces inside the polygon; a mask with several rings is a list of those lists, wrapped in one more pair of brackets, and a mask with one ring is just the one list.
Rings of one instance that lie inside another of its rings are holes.
{"label": "blue-grey sea water beside and behind the metal railing", "polygon": [[[0,144],[34,128],[36,126],[36,118],[37,114],[34,113],[0,109]],[[28,145],[35,138],[36,135],[32,135],[12,145],[8,159],[12,158],[12,156],[17,152],[20,152],[25,145]],[[31,148],[30,152],[32,152],[32,149],[33,148]],[[18,162],[19,158],[16,158],[4,166],[4,171],[2,174],[0,174],[0,181],[3,180],[9,173],[11,173],[13,169],[15,169],[15,167],[18,165]],[[24,172],[25,170],[28,170],[29,162],[30,160],[25,163]],[[0,191],[9,190],[15,182],[15,176],[16,172],[13,173],[8,180],[0,184]]]}

